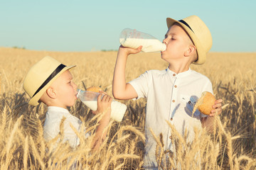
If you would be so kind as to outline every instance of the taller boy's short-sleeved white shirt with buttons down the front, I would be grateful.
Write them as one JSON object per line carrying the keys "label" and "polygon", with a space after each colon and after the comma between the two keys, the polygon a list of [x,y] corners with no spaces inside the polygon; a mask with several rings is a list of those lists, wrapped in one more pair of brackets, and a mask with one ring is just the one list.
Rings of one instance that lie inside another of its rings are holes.
{"label": "taller boy's short-sleeved white shirt with buttons down the front", "polygon": [[192,115],[193,103],[201,97],[203,91],[213,94],[210,80],[191,69],[176,74],[169,68],[149,70],[129,82],[138,98],[146,98],[146,154],[144,168],[157,167],[155,158],[156,141],[151,130],[159,137],[163,135],[165,149],[171,148],[171,130],[166,120],[176,127],[181,135],[188,130],[188,140],[194,137],[193,127],[201,128],[201,118],[206,117],[199,111]]}

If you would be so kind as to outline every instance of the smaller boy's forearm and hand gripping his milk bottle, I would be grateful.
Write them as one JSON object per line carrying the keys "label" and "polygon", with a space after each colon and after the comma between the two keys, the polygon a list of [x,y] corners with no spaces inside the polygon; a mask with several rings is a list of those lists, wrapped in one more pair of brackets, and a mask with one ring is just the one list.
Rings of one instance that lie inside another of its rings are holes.
{"label": "smaller boy's forearm and hand gripping his milk bottle", "polygon": [[104,114],[99,121],[99,125],[97,126],[95,137],[92,140],[92,149],[97,150],[102,142],[107,137],[107,125],[110,123],[110,115],[111,115],[111,102],[112,98],[105,94],[102,97],[100,94],[97,98],[97,111],[96,114],[101,113]]}

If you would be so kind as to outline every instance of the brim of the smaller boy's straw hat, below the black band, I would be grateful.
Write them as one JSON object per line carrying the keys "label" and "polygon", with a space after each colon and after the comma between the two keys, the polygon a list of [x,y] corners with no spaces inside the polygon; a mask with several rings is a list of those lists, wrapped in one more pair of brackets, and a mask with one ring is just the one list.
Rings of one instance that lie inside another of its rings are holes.
{"label": "brim of the smaller boy's straw hat, below the black band", "polygon": [[75,65],[64,67],[58,74],[55,75],[55,77],[53,77],[53,79],[51,79],[51,80],[48,82],[48,84],[46,84],[46,86],[44,86],[40,91],[38,91],[38,93],[37,93],[35,96],[33,96],[33,98],[31,98],[31,100],[28,102],[28,105],[37,106],[37,105],[39,104],[39,103],[38,103],[39,99],[41,98],[41,96],[43,96],[43,93],[46,91],[46,89],[48,89],[48,87],[50,86],[50,84],[52,84],[53,81],[54,81],[55,79],[57,79],[57,78],[60,76],[60,74],[62,74],[62,73],[65,72],[66,70],[71,69],[71,68],[73,68],[73,67],[75,67]]}

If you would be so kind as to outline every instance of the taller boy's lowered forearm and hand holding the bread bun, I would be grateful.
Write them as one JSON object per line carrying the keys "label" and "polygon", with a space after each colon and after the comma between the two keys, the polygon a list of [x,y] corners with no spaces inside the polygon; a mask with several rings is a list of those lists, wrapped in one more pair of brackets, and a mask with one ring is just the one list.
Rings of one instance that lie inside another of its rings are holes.
{"label": "taller boy's lowered forearm and hand holding the bread bun", "polygon": [[213,111],[210,111],[210,115],[208,115],[206,118],[201,118],[202,127],[206,128],[206,130],[208,130],[209,132],[213,130],[214,116],[220,115],[220,113],[222,112],[222,102],[222,99],[216,100],[215,105],[213,105]]}

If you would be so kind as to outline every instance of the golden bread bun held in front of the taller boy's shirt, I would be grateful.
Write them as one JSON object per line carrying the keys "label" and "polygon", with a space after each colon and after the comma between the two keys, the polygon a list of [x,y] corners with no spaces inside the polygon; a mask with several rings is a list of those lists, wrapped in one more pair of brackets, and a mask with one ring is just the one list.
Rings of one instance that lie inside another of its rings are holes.
{"label": "golden bread bun held in front of the taller boy's shirt", "polygon": [[215,104],[215,97],[210,92],[204,91],[200,99],[201,103],[198,105],[198,111],[205,115],[210,115],[210,111],[213,110],[213,105]]}

